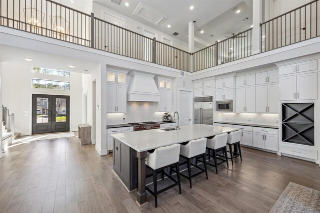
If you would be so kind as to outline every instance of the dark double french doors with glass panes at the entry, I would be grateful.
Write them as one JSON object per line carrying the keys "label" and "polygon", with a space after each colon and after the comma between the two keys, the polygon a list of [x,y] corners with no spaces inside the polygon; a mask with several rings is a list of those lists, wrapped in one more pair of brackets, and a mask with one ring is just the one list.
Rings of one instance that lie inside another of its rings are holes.
{"label": "dark double french doors with glass panes at the entry", "polygon": [[32,135],[68,132],[70,97],[32,94]]}

